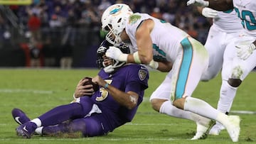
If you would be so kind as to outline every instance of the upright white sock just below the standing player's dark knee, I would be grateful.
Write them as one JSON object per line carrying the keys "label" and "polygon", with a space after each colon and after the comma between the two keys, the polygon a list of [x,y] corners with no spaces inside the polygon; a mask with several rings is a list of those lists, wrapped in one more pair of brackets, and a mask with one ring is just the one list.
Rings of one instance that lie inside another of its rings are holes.
{"label": "upright white sock just below the standing player's dark knee", "polygon": [[218,101],[218,111],[229,112],[237,92],[237,87],[231,87],[227,81],[223,80],[220,88],[220,99]]}

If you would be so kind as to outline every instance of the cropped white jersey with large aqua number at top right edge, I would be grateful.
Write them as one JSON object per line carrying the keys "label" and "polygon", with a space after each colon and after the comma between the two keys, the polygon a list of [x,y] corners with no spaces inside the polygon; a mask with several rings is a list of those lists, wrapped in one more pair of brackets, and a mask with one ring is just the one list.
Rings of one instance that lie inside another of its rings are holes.
{"label": "cropped white jersey with large aqua number at top right edge", "polygon": [[238,17],[242,20],[245,33],[256,38],[256,1],[233,0],[233,5]]}

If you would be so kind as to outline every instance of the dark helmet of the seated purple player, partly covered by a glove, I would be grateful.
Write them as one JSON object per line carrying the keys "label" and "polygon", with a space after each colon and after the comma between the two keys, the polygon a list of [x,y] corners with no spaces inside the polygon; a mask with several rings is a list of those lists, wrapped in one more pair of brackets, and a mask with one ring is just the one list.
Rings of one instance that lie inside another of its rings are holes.
{"label": "dark helmet of the seated purple player, partly covered by a glove", "polygon": [[[107,40],[104,40],[100,48],[97,49],[97,65],[100,69],[103,69],[107,73],[115,72],[119,67],[125,65],[126,62],[119,62],[117,60],[113,60],[109,57],[105,56],[107,49],[112,46]],[[114,45],[115,47],[119,48],[123,53],[130,53],[129,46],[125,43],[117,43]]]}

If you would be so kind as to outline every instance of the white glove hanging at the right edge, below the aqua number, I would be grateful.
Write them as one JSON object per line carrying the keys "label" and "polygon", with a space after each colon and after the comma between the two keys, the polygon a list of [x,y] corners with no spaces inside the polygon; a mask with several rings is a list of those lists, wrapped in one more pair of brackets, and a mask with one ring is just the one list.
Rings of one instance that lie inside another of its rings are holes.
{"label": "white glove hanging at the right edge, below the aqua number", "polygon": [[238,57],[240,57],[242,60],[246,60],[248,57],[250,57],[253,50],[256,49],[255,44],[249,41],[238,43],[238,45],[235,45],[235,47],[238,48]]}

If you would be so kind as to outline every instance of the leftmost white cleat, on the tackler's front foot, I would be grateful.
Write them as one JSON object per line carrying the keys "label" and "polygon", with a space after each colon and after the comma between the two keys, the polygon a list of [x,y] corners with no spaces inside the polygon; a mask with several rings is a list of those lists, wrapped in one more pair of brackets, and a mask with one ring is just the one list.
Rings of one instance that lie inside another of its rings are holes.
{"label": "leftmost white cleat, on the tackler's front foot", "polygon": [[200,123],[196,123],[196,135],[191,140],[206,139],[210,129],[215,125],[215,121],[211,120],[208,126],[203,126]]}

